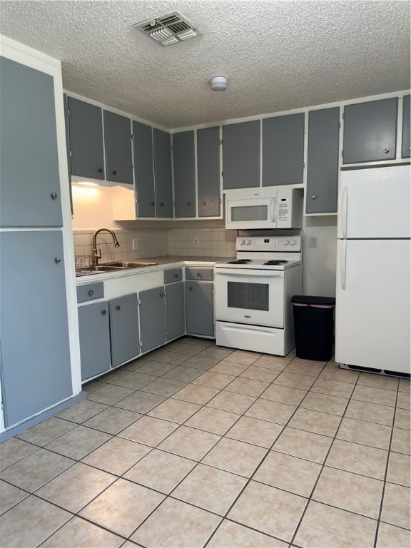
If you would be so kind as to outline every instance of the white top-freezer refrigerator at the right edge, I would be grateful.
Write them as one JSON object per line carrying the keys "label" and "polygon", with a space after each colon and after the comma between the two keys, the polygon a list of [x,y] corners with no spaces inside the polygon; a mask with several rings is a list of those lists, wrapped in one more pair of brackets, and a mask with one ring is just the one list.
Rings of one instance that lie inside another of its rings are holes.
{"label": "white top-freezer refrigerator at the right edge", "polygon": [[410,166],[340,173],[335,361],[410,374]]}

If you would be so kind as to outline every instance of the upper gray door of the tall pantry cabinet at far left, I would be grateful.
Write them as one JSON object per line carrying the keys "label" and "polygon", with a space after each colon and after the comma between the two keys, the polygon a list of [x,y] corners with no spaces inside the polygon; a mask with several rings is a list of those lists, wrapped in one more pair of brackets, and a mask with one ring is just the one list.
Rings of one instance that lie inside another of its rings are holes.
{"label": "upper gray door of the tall pantry cabinet at far left", "polygon": [[54,80],[0,58],[1,226],[61,226]]}

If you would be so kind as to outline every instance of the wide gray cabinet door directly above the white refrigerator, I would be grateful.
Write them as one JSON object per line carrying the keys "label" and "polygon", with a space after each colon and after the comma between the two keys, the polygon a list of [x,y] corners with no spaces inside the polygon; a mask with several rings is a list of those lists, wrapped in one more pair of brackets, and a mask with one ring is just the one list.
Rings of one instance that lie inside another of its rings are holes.
{"label": "wide gray cabinet door directly above the white refrigerator", "polygon": [[396,97],[344,107],[342,163],[395,158],[397,143]]}

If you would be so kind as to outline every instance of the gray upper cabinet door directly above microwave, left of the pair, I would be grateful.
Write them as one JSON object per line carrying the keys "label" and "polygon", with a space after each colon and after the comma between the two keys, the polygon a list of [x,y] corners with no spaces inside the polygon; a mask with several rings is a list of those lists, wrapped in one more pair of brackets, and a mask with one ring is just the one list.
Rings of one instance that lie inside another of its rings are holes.
{"label": "gray upper cabinet door directly above microwave, left of the pair", "polygon": [[260,121],[223,126],[223,188],[260,186]]}

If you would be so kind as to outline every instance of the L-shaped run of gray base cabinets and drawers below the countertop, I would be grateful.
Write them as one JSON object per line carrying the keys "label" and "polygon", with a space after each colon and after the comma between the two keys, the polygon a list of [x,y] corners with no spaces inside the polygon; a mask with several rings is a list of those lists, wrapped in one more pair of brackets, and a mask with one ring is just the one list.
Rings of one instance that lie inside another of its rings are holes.
{"label": "L-shaped run of gray base cabinets and drawers below the countertop", "polygon": [[148,269],[78,282],[83,382],[182,335],[214,338],[213,264]]}

